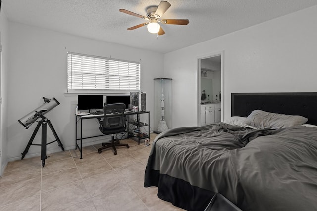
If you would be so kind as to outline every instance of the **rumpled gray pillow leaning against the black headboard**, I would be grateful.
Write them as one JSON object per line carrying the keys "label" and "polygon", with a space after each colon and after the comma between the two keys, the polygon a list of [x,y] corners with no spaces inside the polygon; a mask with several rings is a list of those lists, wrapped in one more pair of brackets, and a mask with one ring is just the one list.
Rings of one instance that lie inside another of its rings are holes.
{"label": "rumpled gray pillow leaning against the black headboard", "polygon": [[301,126],[308,121],[307,118],[298,115],[285,115],[254,110],[245,119],[247,125],[260,129],[281,129],[285,127]]}

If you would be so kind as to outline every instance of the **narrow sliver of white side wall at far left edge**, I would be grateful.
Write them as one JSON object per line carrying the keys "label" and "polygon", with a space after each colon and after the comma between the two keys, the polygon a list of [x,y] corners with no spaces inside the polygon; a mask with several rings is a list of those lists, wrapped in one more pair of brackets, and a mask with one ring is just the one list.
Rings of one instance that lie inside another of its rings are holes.
{"label": "narrow sliver of white side wall at far left edge", "polygon": [[7,114],[7,108],[8,108],[8,72],[9,72],[9,41],[8,41],[8,20],[6,18],[6,15],[1,9],[0,13],[0,31],[1,31],[1,45],[2,45],[2,58],[1,58],[1,97],[2,97],[2,104],[1,106],[1,119],[0,119],[0,150],[2,152],[2,155],[0,157],[0,176],[3,173],[3,170],[7,164],[7,125],[8,125],[8,114]]}

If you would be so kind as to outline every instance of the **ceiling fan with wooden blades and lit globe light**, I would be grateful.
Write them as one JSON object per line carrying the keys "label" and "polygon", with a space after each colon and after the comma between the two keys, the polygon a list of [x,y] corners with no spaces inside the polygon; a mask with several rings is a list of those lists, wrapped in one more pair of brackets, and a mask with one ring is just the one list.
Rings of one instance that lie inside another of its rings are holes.
{"label": "ceiling fan with wooden blades and lit globe light", "polygon": [[146,20],[147,22],[141,23],[136,26],[132,26],[128,28],[127,30],[134,30],[137,28],[140,28],[142,26],[147,25],[148,31],[150,33],[158,33],[158,35],[165,34],[162,27],[159,25],[159,23],[162,24],[176,24],[176,25],[187,25],[189,23],[188,19],[162,19],[162,15],[167,11],[167,9],[170,7],[170,3],[167,1],[161,1],[159,3],[159,6],[149,6],[146,8],[147,16],[139,15],[134,12],[128,11],[126,9],[119,9],[120,12],[126,13],[128,15],[133,15],[139,18],[142,18]]}

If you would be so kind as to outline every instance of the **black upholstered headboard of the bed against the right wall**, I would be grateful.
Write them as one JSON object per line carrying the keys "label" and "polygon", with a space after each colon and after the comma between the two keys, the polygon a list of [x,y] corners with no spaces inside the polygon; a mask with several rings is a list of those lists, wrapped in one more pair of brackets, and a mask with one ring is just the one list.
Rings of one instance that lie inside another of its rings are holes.
{"label": "black upholstered headboard of the bed against the right wall", "polygon": [[231,116],[247,117],[256,109],[301,115],[317,125],[317,92],[231,93]]}

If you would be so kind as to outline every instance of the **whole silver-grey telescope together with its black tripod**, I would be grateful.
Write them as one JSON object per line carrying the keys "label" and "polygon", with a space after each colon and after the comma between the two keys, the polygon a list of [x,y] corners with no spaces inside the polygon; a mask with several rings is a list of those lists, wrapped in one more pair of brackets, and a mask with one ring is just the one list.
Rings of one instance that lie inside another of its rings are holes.
{"label": "whole silver-grey telescope together with its black tripod", "polygon": [[[31,111],[30,113],[28,113],[27,115],[25,115],[24,117],[22,117],[21,119],[19,119],[19,123],[21,123],[22,126],[24,126],[26,129],[29,128],[32,123],[34,123],[37,119],[41,118],[41,120],[38,121],[38,125],[36,126],[34,132],[32,133],[32,136],[28,142],[28,144],[26,145],[25,150],[21,153],[22,154],[22,158],[21,160],[25,157],[26,153],[28,153],[29,148],[31,145],[37,145],[37,146],[41,146],[41,160],[42,160],[42,166],[44,167],[45,165],[45,159],[48,158],[48,156],[46,155],[46,145],[51,144],[55,141],[57,141],[58,146],[60,146],[60,148],[65,151],[63,144],[61,143],[51,121],[49,119],[47,119],[44,114],[46,114],[47,112],[51,111],[53,108],[55,108],[56,106],[59,105],[59,102],[53,98],[48,99],[45,97],[42,97],[44,100],[43,105],[41,105],[40,107],[36,108],[34,111]],[[50,143],[47,143],[47,125],[51,128],[52,133],[54,135],[54,137],[56,138],[56,140],[51,141]],[[42,127],[42,135],[41,135],[41,144],[33,144],[33,140],[35,138],[36,133],[39,131],[40,127]]]}

